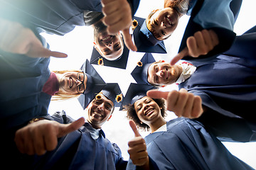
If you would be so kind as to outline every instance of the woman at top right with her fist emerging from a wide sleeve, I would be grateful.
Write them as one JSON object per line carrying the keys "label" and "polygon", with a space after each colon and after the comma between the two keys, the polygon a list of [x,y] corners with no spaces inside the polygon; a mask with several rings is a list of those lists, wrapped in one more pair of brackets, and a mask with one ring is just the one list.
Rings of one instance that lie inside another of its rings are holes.
{"label": "woman at top right with her fist emerging from a wide sleeve", "polygon": [[190,16],[180,52],[172,64],[183,57],[208,57],[228,50],[235,40],[233,26],[240,11],[241,0],[189,1],[166,0],[164,8],[149,13],[141,31],[156,44],[169,38],[183,15]]}

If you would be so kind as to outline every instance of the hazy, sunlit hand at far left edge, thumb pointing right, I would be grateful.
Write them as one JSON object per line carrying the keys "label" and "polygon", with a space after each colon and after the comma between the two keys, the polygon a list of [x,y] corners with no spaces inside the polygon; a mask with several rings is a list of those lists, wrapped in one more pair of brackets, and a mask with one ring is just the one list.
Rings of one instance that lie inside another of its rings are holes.
{"label": "hazy, sunlit hand at far left edge, thumb pointing right", "polygon": [[52,52],[43,47],[32,30],[20,23],[0,18],[0,49],[28,57],[67,57],[61,52]]}

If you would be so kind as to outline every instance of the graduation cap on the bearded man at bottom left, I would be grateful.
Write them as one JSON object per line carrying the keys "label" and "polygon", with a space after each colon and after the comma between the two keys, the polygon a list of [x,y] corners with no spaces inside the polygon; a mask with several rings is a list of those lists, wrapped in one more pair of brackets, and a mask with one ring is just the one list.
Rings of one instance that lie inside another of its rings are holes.
{"label": "graduation cap on the bearded man at bottom left", "polygon": [[102,94],[114,103],[115,107],[122,104],[123,94],[117,83],[108,83],[103,89]]}

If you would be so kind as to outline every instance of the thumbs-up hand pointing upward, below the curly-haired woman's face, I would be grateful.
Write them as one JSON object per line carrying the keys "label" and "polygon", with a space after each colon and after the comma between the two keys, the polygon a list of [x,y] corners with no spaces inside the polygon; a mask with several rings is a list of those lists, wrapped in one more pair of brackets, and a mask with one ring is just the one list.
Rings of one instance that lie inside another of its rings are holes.
{"label": "thumbs-up hand pointing upward, below the curly-haired woman's face", "polygon": [[146,142],[142,136],[139,135],[133,120],[129,121],[129,125],[131,126],[135,135],[134,139],[128,142],[128,153],[130,155],[130,159],[134,165],[149,167],[149,156],[146,152]]}

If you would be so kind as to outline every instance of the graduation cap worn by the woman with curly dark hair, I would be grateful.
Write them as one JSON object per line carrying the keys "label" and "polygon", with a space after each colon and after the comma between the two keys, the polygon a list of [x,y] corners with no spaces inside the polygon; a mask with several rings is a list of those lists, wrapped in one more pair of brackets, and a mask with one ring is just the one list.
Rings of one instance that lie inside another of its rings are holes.
{"label": "graduation cap worn by the woman with curly dark hair", "polygon": [[120,107],[120,111],[124,109],[124,106],[129,104],[134,104],[135,101],[146,96],[146,91],[149,91],[152,89],[157,89],[157,88],[147,84],[131,83],[127,90],[127,94],[124,97],[124,101],[122,102],[122,105]]}

